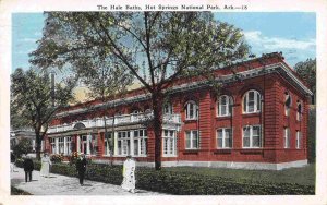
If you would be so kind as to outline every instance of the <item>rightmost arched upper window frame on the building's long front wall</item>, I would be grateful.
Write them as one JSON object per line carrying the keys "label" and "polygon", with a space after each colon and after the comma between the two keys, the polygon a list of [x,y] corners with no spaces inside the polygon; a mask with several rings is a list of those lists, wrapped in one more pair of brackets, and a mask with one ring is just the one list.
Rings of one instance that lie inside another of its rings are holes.
{"label": "rightmost arched upper window frame on the building's long front wall", "polygon": [[[254,93],[253,95],[253,100],[250,100],[250,93]],[[244,93],[243,98],[242,98],[242,112],[243,114],[250,114],[250,113],[259,113],[262,110],[262,94],[256,91],[256,89],[250,89],[246,93]],[[245,102],[246,101],[246,102]],[[250,111],[250,106],[249,102],[253,101],[253,111]]]}

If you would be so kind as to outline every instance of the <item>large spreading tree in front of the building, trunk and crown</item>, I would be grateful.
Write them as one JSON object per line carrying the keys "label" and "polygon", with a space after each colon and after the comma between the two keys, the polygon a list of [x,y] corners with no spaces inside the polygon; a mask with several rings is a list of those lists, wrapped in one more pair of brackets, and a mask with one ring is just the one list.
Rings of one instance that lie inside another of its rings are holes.
{"label": "large spreading tree in front of the building, trunk and crown", "polygon": [[[240,29],[210,12],[51,12],[32,52],[39,68],[81,59],[113,59],[152,96],[155,167],[161,168],[165,91],[182,76],[214,80],[213,70],[243,59],[249,51]],[[210,81],[214,82],[214,81]]]}

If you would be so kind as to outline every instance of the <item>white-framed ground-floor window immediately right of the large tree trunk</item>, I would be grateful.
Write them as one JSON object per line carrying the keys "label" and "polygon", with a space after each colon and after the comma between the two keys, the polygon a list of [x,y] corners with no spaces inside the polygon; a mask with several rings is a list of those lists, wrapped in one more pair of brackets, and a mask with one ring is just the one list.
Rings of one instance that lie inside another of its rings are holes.
{"label": "white-framed ground-floor window immediately right of the large tree trunk", "polygon": [[164,156],[165,157],[174,157],[177,156],[177,138],[175,131],[172,130],[164,130]]}

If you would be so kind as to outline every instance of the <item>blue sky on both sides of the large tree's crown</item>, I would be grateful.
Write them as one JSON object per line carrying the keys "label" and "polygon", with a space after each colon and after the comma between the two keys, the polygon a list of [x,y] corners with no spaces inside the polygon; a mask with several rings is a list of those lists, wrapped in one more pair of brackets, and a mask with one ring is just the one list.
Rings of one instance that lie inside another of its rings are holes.
{"label": "blue sky on both sides of the large tree's crown", "polygon": [[[262,53],[282,51],[286,61],[294,65],[316,58],[316,15],[310,12],[231,12],[215,13],[215,19],[243,31],[251,51]],[[43,13],[12,15],[12,70],[27,69],[28,53],[41,38]]]}

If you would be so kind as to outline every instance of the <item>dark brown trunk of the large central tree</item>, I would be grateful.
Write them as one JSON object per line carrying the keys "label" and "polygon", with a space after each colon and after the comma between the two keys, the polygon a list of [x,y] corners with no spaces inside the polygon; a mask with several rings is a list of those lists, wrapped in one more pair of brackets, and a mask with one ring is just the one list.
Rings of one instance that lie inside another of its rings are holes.
{"label": "dark brown trunk of the large central tree", "polygon": [[162,94],[153,94],[154,121],[153,128],[155,132],[155,169],[161,169],[161,134],[162,134]]}

